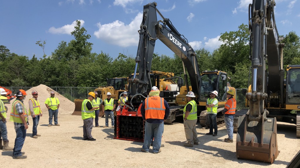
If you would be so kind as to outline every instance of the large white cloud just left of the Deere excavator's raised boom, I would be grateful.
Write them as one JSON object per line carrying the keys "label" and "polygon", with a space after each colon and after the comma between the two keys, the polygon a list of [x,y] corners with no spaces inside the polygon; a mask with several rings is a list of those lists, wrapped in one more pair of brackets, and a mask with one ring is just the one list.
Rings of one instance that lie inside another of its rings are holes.
{"label": "large white cloud just left of the Deere excavator's raised boom", "polygon": [[98,39],[113,45],[121,47],[137,46],[139,43],[137,30],[140,30],[142,17],[143,13],[138,13],[128,25],[119,20],[104,25],[98,23],[99,30],[95,31],[94,35]]}

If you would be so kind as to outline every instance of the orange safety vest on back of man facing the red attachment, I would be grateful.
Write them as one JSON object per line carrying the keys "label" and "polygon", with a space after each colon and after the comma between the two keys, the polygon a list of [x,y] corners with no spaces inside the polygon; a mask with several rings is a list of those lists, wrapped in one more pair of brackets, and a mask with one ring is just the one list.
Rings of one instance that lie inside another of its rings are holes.
{"label": "orange safety vest on back of man facing the red attachment", "polygon": [[151,96],[145,99],[145,118],[164,119],[166,107],[164,98]]}

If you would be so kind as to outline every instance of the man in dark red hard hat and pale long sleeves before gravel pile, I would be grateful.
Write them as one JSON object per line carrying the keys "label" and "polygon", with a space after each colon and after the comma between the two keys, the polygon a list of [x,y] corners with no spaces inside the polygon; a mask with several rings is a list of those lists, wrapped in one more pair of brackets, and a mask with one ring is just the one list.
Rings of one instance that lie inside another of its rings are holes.
{"label": "man in dark red hard hat and pale long sleeves before gravel pile", "polygon": [[32,94],[32,98],[29,99],[28,103],[29,103],[29,111],[33,122],[32,138],[38,138],[41,136],[40,134],[38,134],[38,130],[37,130],[38,123],[40,121],[40,116],[42,117],[43,114],[42,114],[40,102],[38,101],[38,91],[33,90],[31,94]]}

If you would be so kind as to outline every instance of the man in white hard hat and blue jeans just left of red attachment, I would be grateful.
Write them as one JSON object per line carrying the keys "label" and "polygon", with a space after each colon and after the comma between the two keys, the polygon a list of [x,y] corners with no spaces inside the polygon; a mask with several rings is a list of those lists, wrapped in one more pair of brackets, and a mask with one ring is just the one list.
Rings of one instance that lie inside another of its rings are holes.
{"label": "man in white hard hat and blue jeans just left of red attachment", "polygon": [[111,98],[111,93],[107,92],[107,98],[102,103],[102,112],[105,114],[105,126],[104,128],[108,127],[108,115],[110,115],[110,119],[112,120],[112,128],[115,128],[115,119],[113,112],[116,108],[116,104],[114,103],[114,99]]}

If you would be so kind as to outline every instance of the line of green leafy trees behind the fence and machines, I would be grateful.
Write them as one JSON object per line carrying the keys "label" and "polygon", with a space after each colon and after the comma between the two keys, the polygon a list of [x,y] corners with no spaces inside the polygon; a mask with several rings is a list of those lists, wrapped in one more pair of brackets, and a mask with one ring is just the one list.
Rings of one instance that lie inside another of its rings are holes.
{"label": "line of green leafy trees behind the fence and machines", "polygon": [[[32,59],[27,56],[10,53],[0,45],[0,85],[1,86],[47,86],[98,87],[106,85],[106,78],[128,77],[134,72],[135,58],[119,53],[113,59],[109,54],[92,53],[93,44],[88,42],[91,36],[84,27],[76,22],[71,33],[74,39],[61,41],[51,56]],[[295,31],[286,34],[283,43],[283,64],[296,65],[300,62],[300,40]],[[249,68],[249,31],[248,25],[238,26],[237,31],[221,33],[219,41],[224,44],[213,52],[205,48],[196,50],[199,70],[222,70],[231,78],[235,88],[246,88]],[[46,42],[37,41],[43,51]],[[173,72],[183,77],[181,59],[176,56],[153,54],[151,70]]]}

